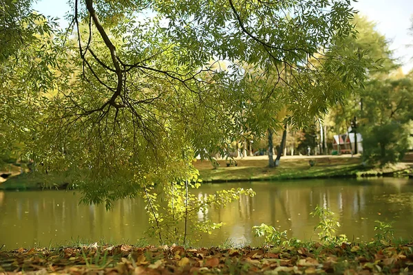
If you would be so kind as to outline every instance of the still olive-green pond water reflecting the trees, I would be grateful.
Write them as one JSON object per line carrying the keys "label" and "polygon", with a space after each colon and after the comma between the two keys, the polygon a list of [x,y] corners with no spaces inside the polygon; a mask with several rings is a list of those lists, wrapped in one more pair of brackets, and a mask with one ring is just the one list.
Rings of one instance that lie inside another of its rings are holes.
{"label": "still olive-green pond water reflecting the trees", "polygon": [[[218,245],[226,239],[254,245],[251,228],[267,223],[289,236],[317,239],[313,228],[317,218],[310,212],[326,206],[341,223],[339,234],[348,239],[369,240],[374,236],[374,221],[394,221],[396,237],[413,237],[412,179],[312,179],[284,182],[242,182],[204,184],[199,196],[223,188],[253,188],[257,195],[241,197],[226,208],[211,208],[198,213],[225,224],[202,237],[199,245]],[[80,194],[66,191],[0,191],[0,247],[6,249],[64,244],[70,240],[131,243],[148,228],[142,199],[123,199],[107,212],[103,205],[79,204]]]}

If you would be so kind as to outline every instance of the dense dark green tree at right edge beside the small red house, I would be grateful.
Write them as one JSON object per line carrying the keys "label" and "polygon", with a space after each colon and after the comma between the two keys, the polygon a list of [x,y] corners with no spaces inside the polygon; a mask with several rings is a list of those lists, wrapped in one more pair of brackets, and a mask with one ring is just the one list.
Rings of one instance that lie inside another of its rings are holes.
{"label": "dense dark green tree at right edge beside the small red house", "polygon": [[399,162],[410,147],[413,116],[410,78],[372,80],[363,91],[363,159],[372,164]]}

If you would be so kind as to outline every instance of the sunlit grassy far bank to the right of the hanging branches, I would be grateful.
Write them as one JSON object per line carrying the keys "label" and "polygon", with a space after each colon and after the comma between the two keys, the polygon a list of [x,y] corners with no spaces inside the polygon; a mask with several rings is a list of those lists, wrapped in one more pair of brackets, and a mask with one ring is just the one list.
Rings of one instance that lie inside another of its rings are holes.
{"label": "sunlit grassy far bank to the right of the hanging branches", "polygon": [[239,159],[237,166],[231,167],[226,167],[226,161],[220,160],[218,169],[213,169],[209,161],[194,162],[194,165],[200,170],[200,178],[207,182],[392,176],[410,173],[410,166],[406,164],[368,168],[361,164],[358,157],[318,158],[315,159],[313,167],[308,161],[308,158],[282,159],[281,166],[277,168],[268,168],[267,159]]}

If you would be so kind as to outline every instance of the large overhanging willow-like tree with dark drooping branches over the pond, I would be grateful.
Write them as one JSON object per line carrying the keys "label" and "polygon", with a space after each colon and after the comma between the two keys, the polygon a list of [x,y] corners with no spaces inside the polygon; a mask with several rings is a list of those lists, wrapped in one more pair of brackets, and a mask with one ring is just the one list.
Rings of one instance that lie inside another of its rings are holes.
{"label": "large overhanging willow-like tree with dark drooping branches over the pond", "polygon": [[160,241],[162,190],[168,221],[187,232],[194,155],[262,135],[268,122],[303,126],[360,85],[362,54],[339,43],[355,35],[352,17],[339,0],[74,0],[70,28],[37,53],[49,77],[28,88],[38,112],[23,151],[40,172],[70,173],[86,203],[141,195]]}

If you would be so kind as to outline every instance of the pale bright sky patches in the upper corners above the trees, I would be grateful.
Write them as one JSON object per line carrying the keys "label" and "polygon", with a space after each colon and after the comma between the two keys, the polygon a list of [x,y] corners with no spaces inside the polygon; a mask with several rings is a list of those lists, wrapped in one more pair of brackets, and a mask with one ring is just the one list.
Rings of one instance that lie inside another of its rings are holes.
{"label": "pale bright sky patches in the upper corners above the trees", "polygon": [[[61,26],[67,26],[63,19],[65,12],[69,10],[67,0],[39,0],[34,9],[42,14],[60,17]],[[370,21],[377,23],[377,31],[384,34],[390,41],[390,50],[394,51],[394,58],[399,58],[399,63],[403,65],[403,72],[407,73],[413,69],[413,34],[409,34],[412,26],[410,20],[413,16],[413,0],[358,0],[352,5],[359,14],[362,14]]]}

